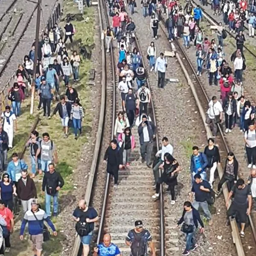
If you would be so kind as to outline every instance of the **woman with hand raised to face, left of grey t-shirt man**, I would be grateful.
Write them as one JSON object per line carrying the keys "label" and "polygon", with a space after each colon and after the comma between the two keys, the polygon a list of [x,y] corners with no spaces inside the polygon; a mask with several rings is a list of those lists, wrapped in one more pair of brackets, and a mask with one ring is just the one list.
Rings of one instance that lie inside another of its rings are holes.
{"label": "woman with hand raised to face, left of grey t-shirt man", "polygon": [[38,166],[39,174],[42,174],[42,166],[41,166],[41,154],[38,154],[36,159],[36,153],[39,149],[40,151],[40,142],[41,137],[39,137],[38,131],[32,131],[29,140],[26,143],[26,147],[29,148],[29,155],[31,158],[31,166],[32,166],[32,178],[35,177],[36,166]]}

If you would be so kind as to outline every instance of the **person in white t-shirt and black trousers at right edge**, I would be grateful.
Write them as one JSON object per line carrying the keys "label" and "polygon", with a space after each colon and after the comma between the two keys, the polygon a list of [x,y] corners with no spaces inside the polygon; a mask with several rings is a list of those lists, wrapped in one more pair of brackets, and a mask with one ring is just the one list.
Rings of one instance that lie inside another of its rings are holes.
{"label": "person in white t-shirt and black trousers at right edge", "polygon": [[256,169],[256,132],[253,121],[249,123],[249,129],[244,133],[244,141],[246,143],[245,150],[248,160],[248,168],[253,166],[253,169]]}

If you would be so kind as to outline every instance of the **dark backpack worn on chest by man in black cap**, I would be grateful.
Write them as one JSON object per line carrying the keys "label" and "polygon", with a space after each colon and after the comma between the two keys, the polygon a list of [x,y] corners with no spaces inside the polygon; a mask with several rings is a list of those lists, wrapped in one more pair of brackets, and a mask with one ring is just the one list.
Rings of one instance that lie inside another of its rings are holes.
{"label": "dark backpack worn on chest by man in black cap", "polygon": [[145,233],[148,232],[147,230],[143,230],[141,233],[136,233],[134,230],[132,230],[132,233],[134,234],[134,240],[131,243],[131,255],[132,256],[142,256],[145,255],[145,250],[147,248],[147,243],[144,239]]}

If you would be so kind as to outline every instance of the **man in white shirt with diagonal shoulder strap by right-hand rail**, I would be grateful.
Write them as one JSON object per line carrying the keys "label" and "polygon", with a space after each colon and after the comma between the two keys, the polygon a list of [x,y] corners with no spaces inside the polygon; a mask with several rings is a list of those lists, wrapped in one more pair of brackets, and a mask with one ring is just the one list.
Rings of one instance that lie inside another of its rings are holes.
{"label": "man in white shirt with diagonal shoulder strap by right-hand rail", "polygon": [[217,100],[216,96],[212,97],[209,102],[209,108],[207,110],[206,123],[212,128],[212,135],[215,137],[218,131],[218,122],[221,122],[223,115],[223,108],[221,102]]}

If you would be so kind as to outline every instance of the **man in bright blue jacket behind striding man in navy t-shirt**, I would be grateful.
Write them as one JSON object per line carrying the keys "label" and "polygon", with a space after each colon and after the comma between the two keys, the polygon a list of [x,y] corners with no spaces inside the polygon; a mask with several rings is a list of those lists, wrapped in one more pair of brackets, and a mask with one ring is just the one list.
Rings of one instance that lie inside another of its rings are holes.
{"label": "man in bright blue jacket behind striding man in navy t-shirt", "polygon": [[208,165],[207,156],[199,152],[198,146],[193,146],[193,154],[190,159],[190,172],[192,183],[194,182],[195,174],[200,174],[203,180],[206,180],[206,169]]}

